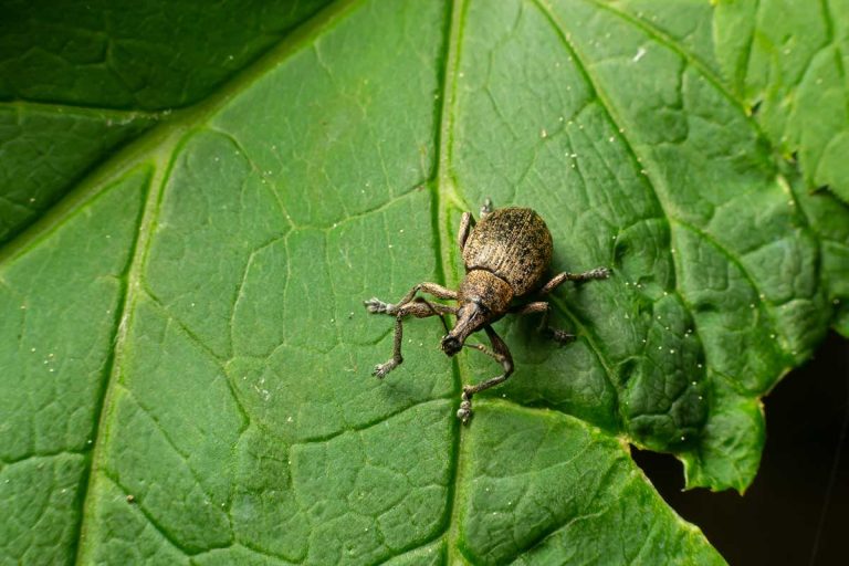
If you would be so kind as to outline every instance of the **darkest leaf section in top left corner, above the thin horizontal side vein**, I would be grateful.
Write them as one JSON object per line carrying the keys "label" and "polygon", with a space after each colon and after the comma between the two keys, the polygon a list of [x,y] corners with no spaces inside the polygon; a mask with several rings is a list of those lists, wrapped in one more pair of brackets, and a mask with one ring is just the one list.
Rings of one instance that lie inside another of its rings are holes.
{"label": "darkest leaf section in top left corner, above the thin horizontal side vein", "polygon": [[208,96],[325,3],[4,0],[0,99],[184,106]]}

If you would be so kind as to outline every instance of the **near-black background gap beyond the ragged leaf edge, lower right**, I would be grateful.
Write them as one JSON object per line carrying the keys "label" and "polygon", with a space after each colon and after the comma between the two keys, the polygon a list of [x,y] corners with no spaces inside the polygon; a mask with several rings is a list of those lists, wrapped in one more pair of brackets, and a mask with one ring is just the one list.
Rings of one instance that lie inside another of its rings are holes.
{"label": "near-black background gap beyond the ragged leaf edge, lower right", "polygon": [[682,492],[678,460],[636,449],[633,458],[732,565],[849,564],[849,342],[831,333],[764,406],[766,448],[744,496]]}

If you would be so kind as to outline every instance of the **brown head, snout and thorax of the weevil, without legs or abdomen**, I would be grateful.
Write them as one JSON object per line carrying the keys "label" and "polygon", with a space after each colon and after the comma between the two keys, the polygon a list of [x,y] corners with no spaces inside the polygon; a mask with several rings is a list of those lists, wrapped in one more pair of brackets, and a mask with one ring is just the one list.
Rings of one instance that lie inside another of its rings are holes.
{"label": "brown head, snout and thorax of the weevil, without legs or abdomen", "polygon": [[501,318],[513,300],[513,287],[501,277],[483,270],[472,270],[460,284],[457,324],[442,337],[442,352],[453,356],[465,339],[488,324]]}

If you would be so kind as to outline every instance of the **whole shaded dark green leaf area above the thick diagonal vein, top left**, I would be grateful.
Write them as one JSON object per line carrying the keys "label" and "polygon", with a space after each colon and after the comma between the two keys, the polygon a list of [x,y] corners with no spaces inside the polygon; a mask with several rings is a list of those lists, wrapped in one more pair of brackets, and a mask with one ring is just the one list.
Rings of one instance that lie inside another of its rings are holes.
{"label": "whole shaded dark green leaf area above the thick diagonal vein, top left", "polygon": [[324,3],[4,0],[0,101],[48,106],[0,107],[0,243],[95,164],[172,108],[201,101]]}

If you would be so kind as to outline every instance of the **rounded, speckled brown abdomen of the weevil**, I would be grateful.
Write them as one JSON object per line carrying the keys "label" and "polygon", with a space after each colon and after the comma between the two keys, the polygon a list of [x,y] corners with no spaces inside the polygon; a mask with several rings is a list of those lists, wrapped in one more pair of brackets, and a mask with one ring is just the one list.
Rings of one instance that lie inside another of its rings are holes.
{"label": "rounded, speckled brown abdomen of the weevil", "polygon": [[485,270],[521,296],[539,285],[552,262],[552,234],[530,208],[501,208],[481,220],[463,248],[465,270]]}

